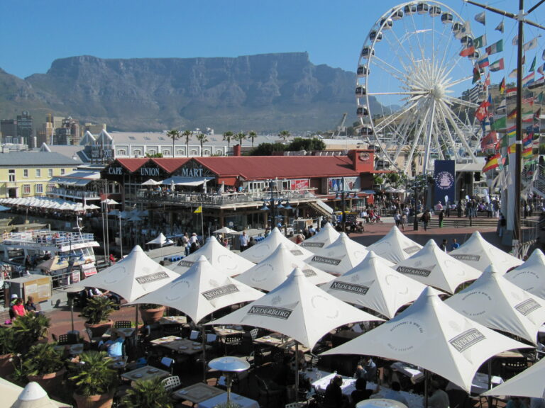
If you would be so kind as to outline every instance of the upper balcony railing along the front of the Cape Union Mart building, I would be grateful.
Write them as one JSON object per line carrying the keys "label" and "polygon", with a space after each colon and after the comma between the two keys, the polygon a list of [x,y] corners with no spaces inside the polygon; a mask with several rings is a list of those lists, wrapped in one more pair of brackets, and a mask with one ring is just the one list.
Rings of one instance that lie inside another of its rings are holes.
{"label": "upper balcony railing along the front of the Cape Union Mart building", "polygon": [[[209,205],[232,205],[232,204],[260,204],[263,200],[271,198],[270,191],[255,193],[224,193],[224,194],[203,194],[203,193],[165,193],[162,191],[138,191],[138,198],[170,203],[192,203]],[[309,200],[316,198],[310,191],[275,191],[275,200]]]}

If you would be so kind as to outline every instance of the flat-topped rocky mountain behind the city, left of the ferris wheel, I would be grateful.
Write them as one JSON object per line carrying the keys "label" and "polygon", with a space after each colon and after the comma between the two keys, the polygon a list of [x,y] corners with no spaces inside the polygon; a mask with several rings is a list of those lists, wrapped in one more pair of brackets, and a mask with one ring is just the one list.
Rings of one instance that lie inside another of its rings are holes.
{"label": "flat-topped rocky mountain behind the city, left of the ferris wheel", "polygon": [[31,111],[118,130],[214,128],[216,132],[332,130],[356,120],[355,74],[314,65],[306,52],[236,58],[55,60],[46,74],[0,70],[0,116]]}

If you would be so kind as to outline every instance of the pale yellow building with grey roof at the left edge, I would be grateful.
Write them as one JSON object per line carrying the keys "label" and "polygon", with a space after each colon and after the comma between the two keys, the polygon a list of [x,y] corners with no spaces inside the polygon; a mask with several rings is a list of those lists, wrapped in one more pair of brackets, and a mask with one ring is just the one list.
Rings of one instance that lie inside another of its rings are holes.
{"label": "pale yellow building with grey roof at the left edge", "polygon": [[54,152],[1,152],[0,197],[45,196],[51,179],[70,174],[82,162]]}

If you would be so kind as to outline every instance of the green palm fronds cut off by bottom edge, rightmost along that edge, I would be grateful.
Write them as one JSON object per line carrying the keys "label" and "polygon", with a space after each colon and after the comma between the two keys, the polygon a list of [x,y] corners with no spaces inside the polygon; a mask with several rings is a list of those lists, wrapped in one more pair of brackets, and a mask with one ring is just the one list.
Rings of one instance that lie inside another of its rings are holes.
{"label": "green palm fronds cut off by bottom edge, rightmost along that edge", "polygon": [[126,408],[172,408],[167,390],[161,384],[161,378],[137,381],[123,397]]}

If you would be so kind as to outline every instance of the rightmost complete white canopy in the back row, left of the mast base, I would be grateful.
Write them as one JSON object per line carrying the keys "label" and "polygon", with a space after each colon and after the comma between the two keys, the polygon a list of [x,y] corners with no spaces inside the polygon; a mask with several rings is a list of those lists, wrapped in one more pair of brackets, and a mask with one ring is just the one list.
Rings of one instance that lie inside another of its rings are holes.
{"label": "rightmost complete white canopy in the back row, left of the mast base", "polygon": [[508,269],[522,263],[520,259],[486,242],[478,231],[473,232],[460,248],[451,251],[449,255],[479,271],[484,271],[491,263],[495,263],[498,271],[505,273]]}

